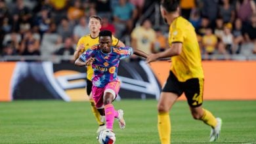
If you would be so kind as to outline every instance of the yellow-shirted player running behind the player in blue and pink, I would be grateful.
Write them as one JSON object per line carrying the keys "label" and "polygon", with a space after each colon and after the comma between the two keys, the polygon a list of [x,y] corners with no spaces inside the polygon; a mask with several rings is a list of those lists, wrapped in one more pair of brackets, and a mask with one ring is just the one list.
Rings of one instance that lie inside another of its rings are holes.
{"label": "yellow-shirted player running behind the player in blue and pink", "polygon": [[[81,54],[83,54],[83,52],[85,52],[85,50],[87,50],[88,48],[90,48],[93,45],[98,44],[98,39],[99,39],[98,34],[100,33],[101,21],[102,20],[99,16],[91,16],[89,18],[88,25],[89,25],[90,33],[79,39],[79,41],[77,43],[76,50],[74,52],[75,60],[77,58],[79,58],[79,56]],[[123,44],[123,42],[119,41],[119,39],[116,39],[116,37],[114,37],[114,36],[112,36],[112,45],[120,46],[120,47],[125,46]],[[89,65],[87,67],[86,91],[87,91],[87,94],[90,99],[91,109],[92,109],[93,114],[95,115],[96,121],[98,122],[98,125],[99,125],[98,130],[96,131],[98,133],[101,130],[103,130],[104,128],[106,128],[106,126],[104,124],[104,120],[102,120],[102,117],[100,117],[100,114],[104,115],[104,109],[97,110],[95,107],[95,102],[93,101],[93,98],[91,97],[91,90],[92,90],[92,86],[93,86],[93,84],[91,82],[92,77],[93,77],[93,68],[91,67],[91,65]]]}

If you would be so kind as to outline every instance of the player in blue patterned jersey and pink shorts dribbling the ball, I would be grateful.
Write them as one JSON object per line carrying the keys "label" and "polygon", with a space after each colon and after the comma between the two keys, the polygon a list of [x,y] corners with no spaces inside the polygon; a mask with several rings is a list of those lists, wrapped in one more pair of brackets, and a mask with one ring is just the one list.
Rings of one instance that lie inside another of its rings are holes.
{"label": "player in blue patterned jersey and pink shorts dribbling the ball", "polygon": [[93,67],[93,99],[101,115],[105,115],[106,128],[109,130],[113,130],[114,118],[117,118],[121,129],[125,128],[123,110],[116,111],[112,101],[116,98],[120,88],[120,81],[117,77],[119,61],[132,54],[144,58],[148,56],[131,47],[112,46],[112,33],[104,30],[99,33],[99,44],[87,49],[75,60],[77,66],[92,65]]}

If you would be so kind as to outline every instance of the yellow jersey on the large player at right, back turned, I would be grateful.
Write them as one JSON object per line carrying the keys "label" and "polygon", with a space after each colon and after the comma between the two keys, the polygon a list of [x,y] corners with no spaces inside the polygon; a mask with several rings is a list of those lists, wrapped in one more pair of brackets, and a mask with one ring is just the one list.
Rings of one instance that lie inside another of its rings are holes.
{"label": "yellow jersey on the large player at right, back turned", "polygon": [[169,27],[169,45],[181,42],[182,52],[179,56],[171,57],[171,71],[177,79],[184,82],[192,78],[203,78],[200,48],[196,31],[192,24],[179,16]]}

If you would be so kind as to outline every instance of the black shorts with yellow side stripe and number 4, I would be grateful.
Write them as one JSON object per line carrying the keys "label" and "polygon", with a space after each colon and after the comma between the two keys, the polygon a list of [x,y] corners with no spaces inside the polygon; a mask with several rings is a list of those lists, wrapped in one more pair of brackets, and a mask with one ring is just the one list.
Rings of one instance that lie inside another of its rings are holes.
{"label": "black shorts with yellow side stripe and number 4", "polygon": [[181,96],[184,92],[188,105],[190,107],[199,107],[203,103],[203,79],[193,78],[185,82],[180,82],[173,72],[170,71],[162,92],[172,92],[178,96]]}

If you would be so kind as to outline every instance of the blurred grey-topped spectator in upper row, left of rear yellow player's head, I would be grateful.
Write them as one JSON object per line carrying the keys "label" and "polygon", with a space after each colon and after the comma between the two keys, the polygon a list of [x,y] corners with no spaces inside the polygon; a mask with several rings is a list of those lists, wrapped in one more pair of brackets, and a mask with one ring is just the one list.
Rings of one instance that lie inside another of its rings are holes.
{"label": "blurred grey-topped spectator in upper row, left of rear yellow player's head", "polygon": [[60,26],[57,28],[57,33],[62,36],[63,39],[73,36],[74,23],[68,21],[67,18],[62,18]]}

